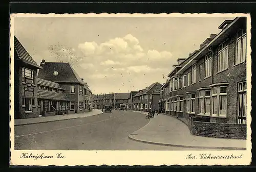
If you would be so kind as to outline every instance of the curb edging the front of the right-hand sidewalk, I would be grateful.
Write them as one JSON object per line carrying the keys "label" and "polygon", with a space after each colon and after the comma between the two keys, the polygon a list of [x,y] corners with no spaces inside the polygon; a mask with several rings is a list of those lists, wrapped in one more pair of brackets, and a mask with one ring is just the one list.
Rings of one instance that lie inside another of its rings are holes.
{"label": "curb edging the front of the right-hand sidewalk", "polygon": [[188,146],[188,145],[179,145],[179,144],[169,144],[169,143],[160,143],[160,142],[153,142],[153,141],[146,141],[132,138],[130,135],[128,136],[129,139],[147,143],[147,144],[155,144],[155,145],[163,145],[163,146],[172,146],[172,147],[180,147],[180,148],[194,148],[194,149],[217,149],[217,150],[246,150],[246,148],[232,148],[232,147],[210,147],[210,146]]}

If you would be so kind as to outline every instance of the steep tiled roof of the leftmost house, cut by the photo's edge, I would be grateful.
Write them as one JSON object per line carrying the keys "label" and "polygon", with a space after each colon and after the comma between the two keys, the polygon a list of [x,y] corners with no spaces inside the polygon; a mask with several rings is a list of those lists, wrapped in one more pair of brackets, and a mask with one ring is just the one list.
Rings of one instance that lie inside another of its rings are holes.
{"label": "steep tiled roof of the leftmost house, cut by the photo's edge", "polygon": [[19,40],[14,36],[14,51],[17,54],[17,57],[23,62],[35,66],[37,68],[41,68],[36,64],[34,59],[29,55],[24,46],[19,42]]}

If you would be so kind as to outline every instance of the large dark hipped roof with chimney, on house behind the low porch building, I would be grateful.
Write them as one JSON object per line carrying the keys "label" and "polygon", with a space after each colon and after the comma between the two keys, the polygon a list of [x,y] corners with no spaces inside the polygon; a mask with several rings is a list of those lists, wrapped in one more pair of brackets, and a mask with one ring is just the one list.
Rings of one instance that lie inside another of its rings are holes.
{"label": "large dark hipped roof with chimney, on house behind the low porch building", "polygon": [[[56,83],[78,83],[84,85],[81,78],[73,69],[70,63],[64,62],[45,62],[40,64],[42,69],[38,72],[38,77]],[[53,72],[57,71],[58,75],[54,76]]]}

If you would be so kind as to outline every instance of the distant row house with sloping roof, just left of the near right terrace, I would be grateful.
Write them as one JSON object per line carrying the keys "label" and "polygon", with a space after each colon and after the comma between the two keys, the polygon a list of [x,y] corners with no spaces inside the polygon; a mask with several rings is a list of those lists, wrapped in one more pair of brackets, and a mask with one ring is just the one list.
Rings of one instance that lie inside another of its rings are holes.
{"label": "distant row house with sloping roof, just left of the near right terrace", "polygon": [[133,96],[133,110],[137,111],[150,111],[159,109],[159,89],[162,87],[162,84],[156,82],[146,87],[143,90]]}

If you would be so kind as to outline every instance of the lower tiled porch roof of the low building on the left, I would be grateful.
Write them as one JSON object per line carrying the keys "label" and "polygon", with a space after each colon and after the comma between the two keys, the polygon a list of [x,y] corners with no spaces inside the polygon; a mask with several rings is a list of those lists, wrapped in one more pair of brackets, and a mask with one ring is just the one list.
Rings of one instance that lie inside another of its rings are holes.
{"label": "lower tiled porch roof of the low building on the left", "polygon": [[37,89],[37,98],[58,100],[58,101],[69,101],[65,93],[53,92],[53,91],[43,90],[43,89]]}

